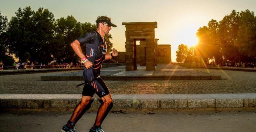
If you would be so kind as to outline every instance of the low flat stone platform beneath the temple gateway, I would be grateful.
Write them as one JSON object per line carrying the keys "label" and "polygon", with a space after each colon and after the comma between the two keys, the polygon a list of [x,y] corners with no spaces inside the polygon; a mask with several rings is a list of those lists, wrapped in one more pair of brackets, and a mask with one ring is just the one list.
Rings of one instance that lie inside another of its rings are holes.
{"label": "low flat stone platform beneath the temple gateway", "polygon": [[[206,73],[195,69],[175,66],[158,65],[155,70],[145,70],[146,66],[138,66],[137,70],[126,71],[125,66],[102,68],[100,76],[103,80],[220,80],[220,75]],[[83,70],[68,73],[56,73],[41,76],[41,81],[83,81]]]}

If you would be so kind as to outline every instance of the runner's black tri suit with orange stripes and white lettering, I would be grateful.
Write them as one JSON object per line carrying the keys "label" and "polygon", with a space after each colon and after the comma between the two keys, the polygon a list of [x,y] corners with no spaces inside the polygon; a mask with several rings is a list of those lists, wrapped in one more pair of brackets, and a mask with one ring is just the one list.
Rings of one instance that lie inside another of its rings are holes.
{"label": "runner's black tri suit with orange stripes and white lettering", "polygon": [[[105,82],[99,77],[102,63],[107,53],[107,45],[97,31],[79,37],[78,42],[86,45],[86,57],[92,62],[93,66],[84,69],[83,79],[85,85],[83,96],[93,96],[96,93],[100,98],[109,94]],[[90,83],[90,84],[89,84]]]}

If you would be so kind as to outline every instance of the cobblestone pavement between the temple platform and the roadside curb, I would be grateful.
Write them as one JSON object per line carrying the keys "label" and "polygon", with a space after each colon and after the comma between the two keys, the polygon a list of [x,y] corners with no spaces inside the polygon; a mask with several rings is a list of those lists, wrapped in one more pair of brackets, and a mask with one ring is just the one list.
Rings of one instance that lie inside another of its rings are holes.
{"label": "cobblestone pavement between the temple platform and the roadside curb", "polygon": [[[256,93],[256,73],[197,68],[221,75],[221,80],[105,81],[112,94],[215,94]],[[83,81],[40,81],[41,76],[56,73],[0,76],[1,94],[81,94]]]}

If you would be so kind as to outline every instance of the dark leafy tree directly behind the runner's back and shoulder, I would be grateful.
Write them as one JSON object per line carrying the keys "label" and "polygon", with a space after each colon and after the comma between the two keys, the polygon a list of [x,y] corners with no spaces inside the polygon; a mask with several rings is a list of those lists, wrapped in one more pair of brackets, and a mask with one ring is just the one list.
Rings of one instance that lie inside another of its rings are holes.
{"label": "dark leafy tree directly behind the runner's back and shoulder", "polygon": [[82,25],[80,22],[77,22],[73,16],[62,17],[56,20],[52,53],[57,63],[72,62],[79,59],[70,44],[84,34],[83,28],[85,30],[90,29],[86,24]]}

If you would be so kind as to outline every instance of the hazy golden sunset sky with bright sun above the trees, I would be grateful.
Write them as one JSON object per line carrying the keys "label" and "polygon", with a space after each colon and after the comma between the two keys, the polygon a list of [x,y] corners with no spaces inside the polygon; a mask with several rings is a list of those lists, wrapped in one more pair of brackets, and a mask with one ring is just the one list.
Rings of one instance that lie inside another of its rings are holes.
{"label": "hazy golden sunset sky with bright sun above the trees", "polygon": [[178,45],[197,43],[196,32],[217,21],[233,9],[256,11],[256,0],[0,0],[0,11],[10,21],[19,7],[48,8],[55,19],[72,15],[79,22],[95,24],[97,16],[109,16],[117,28],[112,28],[112,43],[125,51],[125,26],[122,22],[158,22],[155,36],[158,44],[171,44],[172,62]]}

